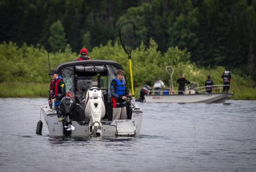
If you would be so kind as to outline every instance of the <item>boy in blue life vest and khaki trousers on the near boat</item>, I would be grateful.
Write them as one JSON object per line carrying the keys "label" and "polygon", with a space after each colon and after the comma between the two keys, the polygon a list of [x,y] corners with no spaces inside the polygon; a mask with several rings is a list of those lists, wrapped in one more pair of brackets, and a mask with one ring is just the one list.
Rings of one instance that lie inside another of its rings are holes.
{"label": "boy in blue life vest and khaki trousers on the near boat", "polygon": [[121,69],[116,71],[116,78],[111,81],[111,95],[113,103],[113,118],[127,119],[126,112],[126,100],[127,97],[131,97],[131,93],[128,92],[127,85],[125,83],[125,72]]}

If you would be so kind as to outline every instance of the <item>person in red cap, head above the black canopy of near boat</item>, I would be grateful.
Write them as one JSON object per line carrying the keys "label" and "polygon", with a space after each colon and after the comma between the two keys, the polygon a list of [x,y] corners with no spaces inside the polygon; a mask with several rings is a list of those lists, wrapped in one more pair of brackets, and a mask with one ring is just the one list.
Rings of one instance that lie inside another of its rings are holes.
{"label": "person in red cap, head above the black canopy of near boat", "polygon": [[[86,48],[82,48],[80,50],[81,56],[78,57],[75,61],[80,60],[91,60],[91,58],[88,56],[88,50]],[[84,79],[80,79],[77,81],[77,97],[79,101],[82,101],[84,93],[88,91],[88,89],[92,88],[92,77],[91,76],[85,76]]]}

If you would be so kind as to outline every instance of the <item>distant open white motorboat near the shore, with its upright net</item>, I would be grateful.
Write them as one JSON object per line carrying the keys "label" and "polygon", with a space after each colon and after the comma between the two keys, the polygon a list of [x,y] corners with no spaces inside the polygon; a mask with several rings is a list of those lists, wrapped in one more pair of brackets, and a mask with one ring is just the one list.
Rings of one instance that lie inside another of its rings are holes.
{"label": "distant open white motorboat near the shore, with its upright net", "polygon": [[[170,72],[170,69],[172,71]],[[206,87],[199,87],[198,83],[191,82],[183,91],[174,91],[172,83],[172,74],[174,69],[171,66],[166,67],[167,73],[170,75],[170,90],[153,91],[148,85],[144,85],[141,89],[140,101],[151,103],[224,103],[234,94],[232,92],[222,92],[225,85],[211,85],[213,92],[207,93]],[[145,89],[145,90],[144,90]],[[180,94],[180,92],[182,92]],[[144,97],[143,97],[144,96]]]}

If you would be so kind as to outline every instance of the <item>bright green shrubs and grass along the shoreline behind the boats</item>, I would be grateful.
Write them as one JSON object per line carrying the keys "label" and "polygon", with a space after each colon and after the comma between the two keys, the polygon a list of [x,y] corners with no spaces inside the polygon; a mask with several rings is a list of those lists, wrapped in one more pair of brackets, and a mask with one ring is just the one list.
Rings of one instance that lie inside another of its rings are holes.
{"label": "bright green shrubs and grass along the shoreline behind the boats", "polygon": [[[221,75],[224,67],[198,67],[190,61],[190,52],[180,50],[177,46],[160,53],[158,45],[150,40],[149,46],[141,45],[131,54],[135,97],[140,95],[142,85],[152,85],[158,77],[169,85],[170,75],[165,71],[168,65],[174,68],[172,76],[175,90],[176,79],[181,73],[189,81],[203,86],[207,75],[212,76],[214,84],[222,84]],[[130,84],[129,61],[118,42],[109,41],[89,51],[92,60],[113,60],[122,65],[126,72],[127,83]],[[67,45],[64,52],[49,53],[51,69],[58,64],[75,60],[79,54],[71,52]],[[47,50],[42,46],[21,47],[13,42],[0,44],[0,97],[48,97],[50,76],[48,76]],[[251,76],[240,69],[231,68],[232,100],[256,100],[256,84]],[[131,90],[130,90],[131,91]]]}

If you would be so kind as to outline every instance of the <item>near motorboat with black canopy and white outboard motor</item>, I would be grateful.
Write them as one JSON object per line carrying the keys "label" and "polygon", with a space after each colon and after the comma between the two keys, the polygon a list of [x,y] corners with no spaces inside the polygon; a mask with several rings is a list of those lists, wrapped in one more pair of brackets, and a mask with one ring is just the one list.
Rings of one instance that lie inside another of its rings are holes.
{"label": "near motorboat with black canopy and white outboard motor", "polygon": [[[50,136],[138,136],[143,111],[133,99],[127,100],[127,119],[112,120],[110,85],[116,71],[122,66],[110,60],[71,61],[58,65],[55,70],[66,85],[66,96],[61,100],[63,117],[49,105],[41,108]],[[92,77],[92,88],[79,101],[78,80]]]}

